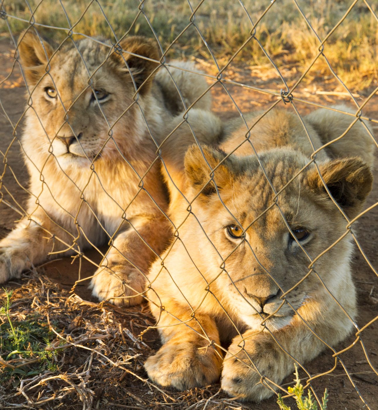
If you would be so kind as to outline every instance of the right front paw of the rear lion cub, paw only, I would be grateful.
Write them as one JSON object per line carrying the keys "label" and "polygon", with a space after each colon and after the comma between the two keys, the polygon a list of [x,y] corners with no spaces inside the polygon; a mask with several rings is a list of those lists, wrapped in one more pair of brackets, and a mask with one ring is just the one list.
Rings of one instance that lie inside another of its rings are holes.
{"label": "right front paw of the rear lion cub, paw only", "polygon": [[121,273],[99,268],[92,278],[91,288],[92,295],[100,301],[109,301],[117,306],[134,306],[143,301],[141,293],[144,284],[143,275],[136,270]]}

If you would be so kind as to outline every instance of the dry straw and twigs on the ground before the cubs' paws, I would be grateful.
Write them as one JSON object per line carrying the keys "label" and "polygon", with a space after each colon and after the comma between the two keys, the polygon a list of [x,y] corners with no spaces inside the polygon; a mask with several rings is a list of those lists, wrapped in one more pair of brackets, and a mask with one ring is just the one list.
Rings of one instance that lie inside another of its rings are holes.
{"label": "dry straw and twigs on the ground before the cubs' paws", "polygon": [[[4,310],[0,314],[1,409],[184,410],[206,403],[208,410],[244,408],[220,393],[219,385],[177,392],[147,380],[143,362],[158,348],[156,330],[148,330],[143,340],[139,337],[154,321],[147,305],[119,309],[83,301],[36,271],[29,272],[21,286],[10,287],[14,329],[28,322],[32,332],[28,353],[9,355],[9,321]],[[0,299],[6,299],[4,290]],[[39,340],[34,351],[34,334],[40,328],[49,337]]]}

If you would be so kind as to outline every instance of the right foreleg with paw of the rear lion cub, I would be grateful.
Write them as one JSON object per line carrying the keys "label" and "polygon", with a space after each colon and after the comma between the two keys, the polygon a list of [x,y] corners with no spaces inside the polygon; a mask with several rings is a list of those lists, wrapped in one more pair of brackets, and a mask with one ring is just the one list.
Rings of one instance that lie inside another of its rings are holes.
{"label": "right foreleg with paw of the rear lion cub", "polygon": [[143,301],[146,273],[171,236],[167,219],[139,217],[133,227],[121,232],[92,277],[93,296],[118,306],[138,305]]}

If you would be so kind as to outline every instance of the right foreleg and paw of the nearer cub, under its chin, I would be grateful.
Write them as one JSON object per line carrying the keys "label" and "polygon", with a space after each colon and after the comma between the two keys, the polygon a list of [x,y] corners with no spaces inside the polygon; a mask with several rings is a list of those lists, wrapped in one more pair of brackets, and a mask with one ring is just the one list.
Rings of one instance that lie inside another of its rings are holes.
{"label": "right foreleg and paw of the nearer cub, under its chin", "polygon": [[[327,312],[325,317],[319,317],[317,322],[309,322],[308,325],[324,342],[335,346],[350,333],[352,322],[341,309],[329,308],[330,305],[331,300],[323,306],[323,311]],[[310,306],[308,308],[311,309]],[[317,308],[319,306],[314,307]],[[286,376],[292,374],[293,358],[303,364],[327,347],[298,315],[294,316],[290,325],[272,335],[269,332],[256,334],[256,331],[247,330],[242,338],[237,336],[233,339],[222,371],[222,389],[228,394],[257,402],[267,399],[276,390],[269,380],[279,385]],[[264,383],[270,388],[260,383],[262,376],[266,377]]]}

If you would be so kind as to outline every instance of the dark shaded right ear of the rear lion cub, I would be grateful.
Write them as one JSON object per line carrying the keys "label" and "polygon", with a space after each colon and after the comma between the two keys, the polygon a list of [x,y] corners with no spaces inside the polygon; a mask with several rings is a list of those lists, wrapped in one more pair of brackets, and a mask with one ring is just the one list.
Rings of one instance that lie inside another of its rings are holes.
{"label": "dark shaded right ear of the rear lion cub", "polygon": [[[131,36],[122,40],[120,47],[124,51],[129,51],[140,56],[138,57],[126,52],[122,53],[122,55],[117,52],[113,54],[113,58],[117,62],[121,72],[129,72],[127,65],[129,66],[137,88],[144,83],[139,92],[142,94],[145,93],[151,87],[153,77],[151,74],[158,66],[158,63],[143,58],[147,57],[148,59],[159,60],[159,53],[154,41],[143,36]],[[127,65],[124,60],[127,61]]]}

